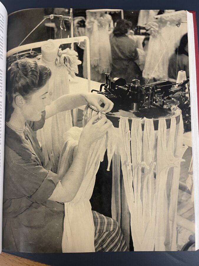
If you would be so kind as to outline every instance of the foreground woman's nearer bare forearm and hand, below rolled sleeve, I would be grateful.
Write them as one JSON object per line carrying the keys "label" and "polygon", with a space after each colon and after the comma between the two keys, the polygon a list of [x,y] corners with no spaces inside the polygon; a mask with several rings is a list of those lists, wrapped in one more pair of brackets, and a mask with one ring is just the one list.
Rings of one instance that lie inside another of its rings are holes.
{"label": "foreground woman's nearer bare forearm and hand, below rolled sleeve", "polygon": [[58,185],[55,188],[49,200],[70,202],[77,194],[83,181],[91,144],[103,137],[106,134],[108,128],[112,126],[111,121],[108,120],[106,116],[93,124],[97,119],[98,115],[93,116],[89,120],[88,124],[83,128],[73,163],[68,169],[68,172],[61,180],[62,186]]}

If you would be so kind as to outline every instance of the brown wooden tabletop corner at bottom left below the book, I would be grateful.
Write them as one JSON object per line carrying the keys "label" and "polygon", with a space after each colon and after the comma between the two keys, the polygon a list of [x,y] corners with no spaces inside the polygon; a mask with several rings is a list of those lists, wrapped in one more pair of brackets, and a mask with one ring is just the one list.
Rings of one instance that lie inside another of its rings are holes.
{"label": "brown wooden tabletop corner at bottom left below the book", "polygon": [[0,254],[0,266],[45,266],[46,264],[23,259],[11,254],[2,252]]}

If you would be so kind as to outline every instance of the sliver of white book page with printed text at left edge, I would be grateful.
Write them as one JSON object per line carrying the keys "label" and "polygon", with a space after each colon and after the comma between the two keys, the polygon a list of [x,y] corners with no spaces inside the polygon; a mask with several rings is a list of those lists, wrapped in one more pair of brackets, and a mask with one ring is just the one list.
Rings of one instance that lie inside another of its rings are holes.
{"label": "sliver of white book page with printed text at left edge", "polygon": [[4,179],[4,133],[5,133],[5,97],[6,97],[6,51],[7,51],[8,14],[0,2],[0,252],[2,249],[2,205]]}

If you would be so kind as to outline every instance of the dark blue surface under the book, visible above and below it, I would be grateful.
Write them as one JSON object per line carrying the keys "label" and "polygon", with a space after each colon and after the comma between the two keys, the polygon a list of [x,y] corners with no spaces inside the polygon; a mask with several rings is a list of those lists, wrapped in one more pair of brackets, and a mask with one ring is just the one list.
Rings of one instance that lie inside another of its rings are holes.
{"label": "dark blue surface under the book, visible above and below it", "polygon": [[[133,0],[1,0],[11,12],[38,7],[72,7],[72,8],[114,8],[114,9],[187,9],[196,11],[198,33],[199,33],[199,1],[189,0],[152,0],[152,1],[133,1]],[[6,252],[6,251],[5,251]],[[73,254],[30,254],[8,252],[20,257],[43,262],[53,266],[121,266],[121,265],[140,265],[140,266],[168,266],[168,265],[199,265],[199,251],[197,252],[108,252],[108,253],[73,253]]]}

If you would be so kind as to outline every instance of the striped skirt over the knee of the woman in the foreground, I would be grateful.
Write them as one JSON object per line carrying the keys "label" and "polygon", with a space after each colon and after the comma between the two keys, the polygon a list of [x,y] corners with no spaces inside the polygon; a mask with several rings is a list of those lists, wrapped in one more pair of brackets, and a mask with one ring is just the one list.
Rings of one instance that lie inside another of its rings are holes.
{"label": "striped skirt over the knee of the woman in the foreground", "polygon": [[95,225],[95,251],[129,251],[118,223],[92,211]]}

